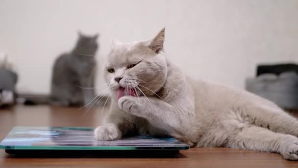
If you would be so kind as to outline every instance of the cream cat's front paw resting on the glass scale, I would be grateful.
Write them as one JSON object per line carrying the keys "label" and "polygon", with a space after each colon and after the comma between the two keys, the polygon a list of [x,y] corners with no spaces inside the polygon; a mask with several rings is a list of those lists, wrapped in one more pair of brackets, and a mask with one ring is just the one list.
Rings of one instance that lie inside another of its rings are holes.
{"label": "cream cat's front paw resting on the glass scale", "polygon": [[122,134],[114,125],[103,125],[94,130],[94,136],[96,140],[117,140]]}

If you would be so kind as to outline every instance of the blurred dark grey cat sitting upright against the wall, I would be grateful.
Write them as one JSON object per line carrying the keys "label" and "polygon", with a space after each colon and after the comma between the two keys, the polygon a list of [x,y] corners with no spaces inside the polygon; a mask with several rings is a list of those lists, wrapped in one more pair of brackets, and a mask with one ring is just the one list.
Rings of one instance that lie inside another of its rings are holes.
{"label": "blurred dark grey cat sitting upright against the wall", "polygon": [[95,54],[99,35],[87,36],[78,32],[78,36],[75,48],[54,62],[50,95],[52,105],[86,106],[95,97]]}

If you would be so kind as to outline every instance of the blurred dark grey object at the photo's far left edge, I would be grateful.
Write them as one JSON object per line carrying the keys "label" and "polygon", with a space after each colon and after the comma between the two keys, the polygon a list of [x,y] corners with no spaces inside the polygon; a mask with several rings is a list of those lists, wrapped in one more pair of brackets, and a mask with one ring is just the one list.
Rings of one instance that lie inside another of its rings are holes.
{"label": "blurred dark grey object at the photo's far left edge", "polygon": [[13,105],[16,100],[15,86],[18,75],[13,72],[7,56],[0,59],[0,108]]}

